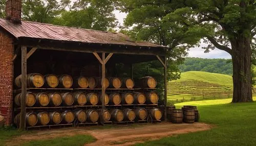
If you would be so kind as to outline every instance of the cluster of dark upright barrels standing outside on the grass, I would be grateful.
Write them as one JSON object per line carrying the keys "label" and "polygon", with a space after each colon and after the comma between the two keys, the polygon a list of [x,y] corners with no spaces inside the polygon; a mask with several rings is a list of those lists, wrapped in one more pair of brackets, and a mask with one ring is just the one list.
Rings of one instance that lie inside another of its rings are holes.
{"label": "cluster of dark upright barrels standing outside on the grass", "polygon": [[173,123],[194,123],[200,118],[196,106],[183,106],[181,110],[167,107],[167,116]]}

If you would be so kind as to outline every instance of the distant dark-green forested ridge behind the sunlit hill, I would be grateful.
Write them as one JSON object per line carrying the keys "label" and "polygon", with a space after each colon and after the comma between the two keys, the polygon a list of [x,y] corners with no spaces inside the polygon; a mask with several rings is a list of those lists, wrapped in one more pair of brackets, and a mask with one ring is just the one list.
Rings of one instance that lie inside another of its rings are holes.
{"label": "distant dark-green forested ridge behind the sunlit hill", "polygon": [[206,71],[218,74],[232,75],[231,59],[203,59],[186,57],[184,64],[179,65],[181,72]]}

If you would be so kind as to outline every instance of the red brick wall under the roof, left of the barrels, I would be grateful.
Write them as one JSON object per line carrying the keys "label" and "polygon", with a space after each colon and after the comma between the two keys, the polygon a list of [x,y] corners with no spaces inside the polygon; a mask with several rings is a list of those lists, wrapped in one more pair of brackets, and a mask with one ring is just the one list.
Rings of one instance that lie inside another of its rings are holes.
{"label": "red brick wall under the roof, left of the barrels", "polygon": [[13,37],[0,28],[0,111],[6,125],[12,124]]}

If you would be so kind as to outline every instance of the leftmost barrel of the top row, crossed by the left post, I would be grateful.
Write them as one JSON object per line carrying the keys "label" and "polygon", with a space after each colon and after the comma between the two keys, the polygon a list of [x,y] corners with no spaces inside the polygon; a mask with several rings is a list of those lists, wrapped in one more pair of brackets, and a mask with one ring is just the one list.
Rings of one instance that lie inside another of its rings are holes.
{"label": "leftmost barrel of the top row, crossed by the left post", "polygon": [[[22,87],[22,75],[15,78],[15,84],[17,87]],[[41,74],[33,73],[27,75],[27,87],[40,88],[44,86],[45,79]]]}

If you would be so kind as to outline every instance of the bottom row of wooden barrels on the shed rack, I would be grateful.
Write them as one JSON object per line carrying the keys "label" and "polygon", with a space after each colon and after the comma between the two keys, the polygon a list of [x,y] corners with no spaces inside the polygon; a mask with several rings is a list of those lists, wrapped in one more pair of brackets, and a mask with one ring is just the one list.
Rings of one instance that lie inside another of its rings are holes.
{"label": "bottom row of wooden barrels on the shed rack", "polygon": [[[96,123],[99,120],[101,109],[82,110],[76,109],[74,111],[41,111],[41,112],[28,112],[26,114],[26,124],[29,127],[45,126],[45,125],[58,125],[58,124],[78,124],[78,123]],[[162,112],[158,108],[144,109],[110,109],[104,110],[104,121],[134,121],[144,120],[148,116],[153,119],[159,120],[162,117]],[[19,126],[20,114],[14,118],[14,124]]]}

